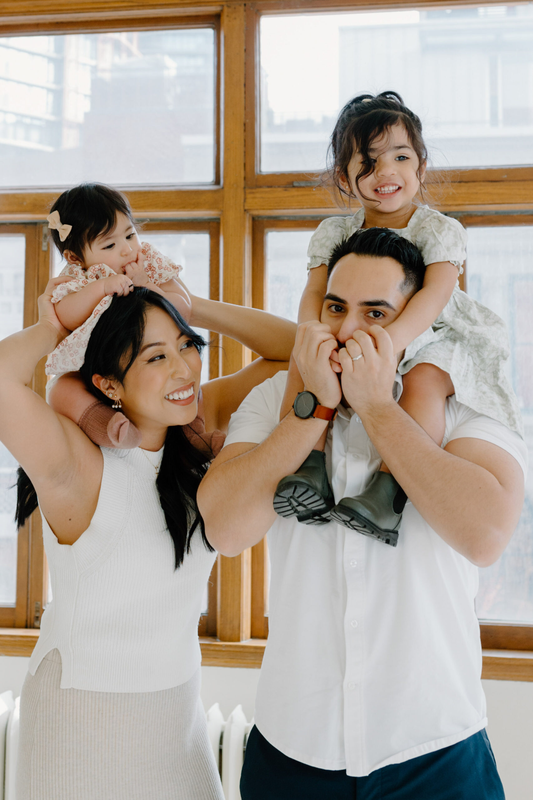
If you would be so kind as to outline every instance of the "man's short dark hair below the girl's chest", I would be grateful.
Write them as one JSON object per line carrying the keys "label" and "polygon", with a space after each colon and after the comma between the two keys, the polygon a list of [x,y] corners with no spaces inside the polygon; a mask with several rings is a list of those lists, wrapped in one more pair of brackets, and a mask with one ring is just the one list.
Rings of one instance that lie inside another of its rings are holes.
{"label": "man's short dark hair below the girl's chest", "polygon": [[333,248],[328,262],[328,280],[336,262],[345,255],[368,255],[372,258],[394,258],[404,270],[402,294],[414,294],[422,288],[426,267],[418,247],[388,228],[360,228]]}

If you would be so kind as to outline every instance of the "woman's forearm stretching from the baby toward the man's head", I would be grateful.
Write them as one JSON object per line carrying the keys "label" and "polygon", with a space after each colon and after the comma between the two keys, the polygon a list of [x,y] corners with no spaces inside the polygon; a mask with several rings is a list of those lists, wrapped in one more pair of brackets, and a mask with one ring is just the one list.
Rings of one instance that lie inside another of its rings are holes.
{"label": "woman's forearm stretching from the baby toward the man's head", "polygon": [[288,361],[296,323],[266,311],[192,296],[190,324],[229,336],[271,361]]}

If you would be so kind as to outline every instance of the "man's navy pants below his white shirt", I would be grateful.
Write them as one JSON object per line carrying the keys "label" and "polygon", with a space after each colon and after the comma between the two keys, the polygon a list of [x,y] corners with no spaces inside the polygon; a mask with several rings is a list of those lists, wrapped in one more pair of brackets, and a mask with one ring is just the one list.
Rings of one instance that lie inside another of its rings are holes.
{"label": "man's navy pants below his white shirt", "polygon": [[242,800],[505,800],[484,730],[463,742],[366,778],[320,770],[280,753],[254,726],[241,774]]}

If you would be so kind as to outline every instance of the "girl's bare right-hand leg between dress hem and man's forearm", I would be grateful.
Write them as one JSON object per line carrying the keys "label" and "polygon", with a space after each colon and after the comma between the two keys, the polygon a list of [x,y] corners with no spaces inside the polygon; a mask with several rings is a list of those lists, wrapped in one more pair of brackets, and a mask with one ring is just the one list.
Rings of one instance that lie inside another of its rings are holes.
{"label": "girl's bare right-hand leg between dress hem and man's forearm", "polygon": [[[446,428],[446,398],[455,394],[450,376],[433,364],[417,364],[404,374],[404,390],[398,405],[441,445]],[[390,472],[386,464],[381,472]]]}

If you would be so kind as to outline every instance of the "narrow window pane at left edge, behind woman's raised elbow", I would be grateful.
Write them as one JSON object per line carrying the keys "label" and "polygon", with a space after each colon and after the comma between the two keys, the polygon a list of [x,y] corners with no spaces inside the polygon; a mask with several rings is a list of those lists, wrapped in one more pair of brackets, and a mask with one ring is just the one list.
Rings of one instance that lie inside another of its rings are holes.
{"label": "narrow window pane at left edge, behind woman's raised elbow", "polygon": [[[26,238],[0,234],[0,339],[22,328]],[[17,529],[14,524],[17,462],[0,443],[0,605],[14,606],[17,593]]]}

